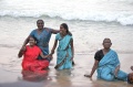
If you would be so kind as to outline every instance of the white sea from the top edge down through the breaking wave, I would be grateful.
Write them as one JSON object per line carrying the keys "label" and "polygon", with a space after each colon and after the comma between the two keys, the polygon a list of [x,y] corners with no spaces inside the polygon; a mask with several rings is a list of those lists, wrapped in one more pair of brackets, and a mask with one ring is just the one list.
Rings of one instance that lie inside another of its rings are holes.
{"label": "white sea from the top edge down through the breaking wave", "polygon": [[2,0],[0,17],[50,17],[133,25],[132,0]]}

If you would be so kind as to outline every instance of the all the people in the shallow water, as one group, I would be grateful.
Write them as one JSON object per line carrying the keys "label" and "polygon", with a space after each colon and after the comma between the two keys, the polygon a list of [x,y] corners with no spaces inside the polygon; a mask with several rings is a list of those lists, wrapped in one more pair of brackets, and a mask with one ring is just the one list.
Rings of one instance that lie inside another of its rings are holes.
{"label": "all the people in the shallow water, as one group", "polygon": [[[33,30],[25,39],[18,56],[23,55],[22,69],[34,73],[45,73],[57,48],[55,69],[70,69],[74,65],[74,46],[72,33],[69,31],[66,23],[60,25],[60,30],[44,28],[44,21],[37,21],[38,29]],[[49,53],[49,41],[51,34],[57,34],[53,47]],[[27,45],[29,43],[29,45]],[[59,43],[59,45],[58,45]],[[103,40],[103,48],[94,55],[94,65],[90,75],[92,78],[94,72],[98,72],[98,78],[104,80],[125,80],[133,84],[133,73],[126,74],[120,69],[120,61],[115,51],[111,50],[112,42],[110,39]],[[131,66],[133,70],[133,66]]]}

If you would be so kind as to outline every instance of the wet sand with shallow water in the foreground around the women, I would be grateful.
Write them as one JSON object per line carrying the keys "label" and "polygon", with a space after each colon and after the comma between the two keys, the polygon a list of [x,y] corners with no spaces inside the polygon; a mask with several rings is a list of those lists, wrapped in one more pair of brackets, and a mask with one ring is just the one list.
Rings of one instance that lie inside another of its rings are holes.
{"label": "wet sand with shallow water in the foreground around the women", "polygon": [[[50,64],[48,75],[23,78],[21,74],[21,61],[18,58],[18,48],[0,47],[0,87],[133,87],[126,81],[105,81],[96,79],[96,72],[92,80],[84,77],[93,66],[93,55],[75,53],[75,66],[71,70],[55,70],[55,58]],[[119,53],[121,69],[131,73],[133,54]],[[54,54],[55,57],[55,54]]]}

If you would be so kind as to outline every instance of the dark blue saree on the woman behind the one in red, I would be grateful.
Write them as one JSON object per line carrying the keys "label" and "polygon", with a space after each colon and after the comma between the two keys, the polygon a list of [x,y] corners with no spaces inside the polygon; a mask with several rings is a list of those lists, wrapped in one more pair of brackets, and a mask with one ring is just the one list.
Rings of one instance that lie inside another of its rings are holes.
{"label": "dark blue saree on the woman behind the one in red", "polygon": [[[44,30],[39,34],[38,30],[33,30],[30,35],[37,40],[37,45],[41,48],[43,55],[49,54],[49,41],[51,37],[51,29],[44,28]],[[38,57],[42,59],[41,56]]]}

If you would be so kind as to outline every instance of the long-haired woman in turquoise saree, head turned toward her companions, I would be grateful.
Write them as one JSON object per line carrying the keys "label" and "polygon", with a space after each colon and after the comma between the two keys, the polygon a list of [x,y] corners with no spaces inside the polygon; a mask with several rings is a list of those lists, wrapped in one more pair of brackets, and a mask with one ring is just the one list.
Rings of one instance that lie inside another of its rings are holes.
{"label": "long-haired woman in turquoise saree, head turned toward her companions", "polygon": [[59,46],[57,50],[57,65],[55,69],[70,69],[72,67],[72,61],[74,55],[73,39],[72,34],[69,32],[66,23],[60,25],[60,33],[57,34],[54,45],[51,50],[51,54],[54,53],[59,41]]}

